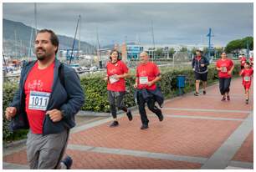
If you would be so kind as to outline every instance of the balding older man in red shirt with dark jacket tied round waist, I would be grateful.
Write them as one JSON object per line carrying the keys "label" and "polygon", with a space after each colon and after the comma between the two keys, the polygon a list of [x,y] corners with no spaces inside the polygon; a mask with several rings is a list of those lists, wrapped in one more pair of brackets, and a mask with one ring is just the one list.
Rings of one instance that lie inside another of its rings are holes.
{"label": "balding older man in red shirt with dark jacket tied round waist", "polygon": [[[137,91],[137,103],[139,105],[139,112],[141,114],[141,129],[147,129],[149,120],[146,116],[145,104],[147,103],[148,109],[156,114],[160,121],[163,120],[161,109],[155,105],[157,94],[156,82],[161,79],[161,73],[155,63],[149,61],[148,54],[142,52],[140,54],[141,63],[136,68],[136,83],[134,87]],[[147,97],[146,97],[147,95]]]}

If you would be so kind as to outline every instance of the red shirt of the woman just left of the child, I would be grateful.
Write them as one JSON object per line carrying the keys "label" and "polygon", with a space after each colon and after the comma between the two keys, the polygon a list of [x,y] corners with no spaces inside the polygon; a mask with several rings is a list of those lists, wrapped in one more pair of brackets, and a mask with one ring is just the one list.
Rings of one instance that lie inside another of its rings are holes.
{"label": "red shirt of the woman just left of the child", "polygon": [[226,70],[218,70],[219,78],[231,78],[231,74],[228,74],[228,71],[233,67],[233,61],[229,58],[226,59],[218,59],[216,63],[216,67],[218,68],[226,68]]}

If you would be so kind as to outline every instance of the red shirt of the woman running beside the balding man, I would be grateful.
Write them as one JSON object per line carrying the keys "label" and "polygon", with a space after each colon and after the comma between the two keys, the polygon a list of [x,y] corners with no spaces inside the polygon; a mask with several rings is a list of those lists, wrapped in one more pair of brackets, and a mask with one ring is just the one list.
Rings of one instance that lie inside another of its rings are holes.
{"label": "red shirt of the woman running beside the balding man", "polygon": [[121,60],[117,61],[117,63],[110,63],[108,62],[106,65],[107,68],[107,75],[109,77],[107,89],[110,91],[125,91],[125,79],[119,78],[118,81],[114,83],[110,83],[110,77],[117,74],[124,74],[128,73],[129,69],[127,68],[126,64],[123,63]]}

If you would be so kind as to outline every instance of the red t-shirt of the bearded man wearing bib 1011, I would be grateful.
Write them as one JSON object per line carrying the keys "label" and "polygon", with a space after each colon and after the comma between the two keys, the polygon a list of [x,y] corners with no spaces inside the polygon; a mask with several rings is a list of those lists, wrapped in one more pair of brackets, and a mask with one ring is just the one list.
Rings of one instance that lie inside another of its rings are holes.
{"label": "red t-shirt of the bearded man wearing bib 1011", "polygon": [[43,134],[43,123],[45,110],[28,109],[29,96],[31,91],[52,92],[54,82],[54,63],[44,69],[38,69],[38,62],[34,64],[28,73],[25,82],[25,100],[26,113],[28,115],[28,123],[33,134]]}

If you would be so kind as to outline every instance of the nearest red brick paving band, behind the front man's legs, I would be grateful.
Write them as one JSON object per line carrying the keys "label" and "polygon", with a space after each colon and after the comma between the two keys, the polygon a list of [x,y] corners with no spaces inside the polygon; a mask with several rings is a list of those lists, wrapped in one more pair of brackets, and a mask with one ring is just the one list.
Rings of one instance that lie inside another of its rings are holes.
{"label": "nearest red brick paving band, behind the front man's legs", "polygon": [[[68,149],[72,157],[72,169],[200,169],[201,164],[181,161],[141,158],[120,154],[101,154]],[[27,165],[26,150],[5,156],[4,162]]]}

